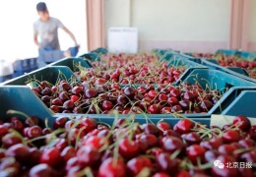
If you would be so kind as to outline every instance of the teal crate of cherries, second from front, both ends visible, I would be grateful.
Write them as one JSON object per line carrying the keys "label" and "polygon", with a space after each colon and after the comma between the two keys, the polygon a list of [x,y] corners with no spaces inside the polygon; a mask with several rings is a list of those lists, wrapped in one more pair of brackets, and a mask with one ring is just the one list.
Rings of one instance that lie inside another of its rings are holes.
{"label": "teal crate of cherries, second from front, both ends visible", "polygon": [[[222,110],[229,105],[232,100],[237,96],[237,89],[247,89],[250,87],[256,87],[254,83],[239,79],[235,76],[223,73],[217,70],[210,69],[189,69],[191,70],[188,76],[182,75],[182,77],[177,81],[175,85],[178,85],[181,82],[188,82],[190,84],[198,83],[204,89],[222,89],[223,97],[220,100],[220,104],[215,105],[207,114],[182,114],[182,116],[188,118],[209,118],[213,113],[222,113]],[[23,76],[17,80],[5,83],[5,86],[9,85],[25,85],[28,79],[34,76],[34,79],[37,81],[46,80],[49,83],[55,84],[58,80],[59,73],[63,74],[62,79],[72,79],[74,77],[72,71],[68,67],[48,67],[42,70],[38,70],[30,74],[30,77]],[[224,89],[228,89],[225,91]],[[31,100],[33,101],[33,100]],[[40,100],[39,100],[40,101]],[[220,106],[221,105],[221,106]],[[99,115],[92,115],[98,117]],[[102,115],[103,117],[105,115]],[[123,115],[122,115],[123,117]],[[172,114],[149,114],[149,118],[174,118]],[[145,119],[145,115],[138,114],[136,118]]]}

